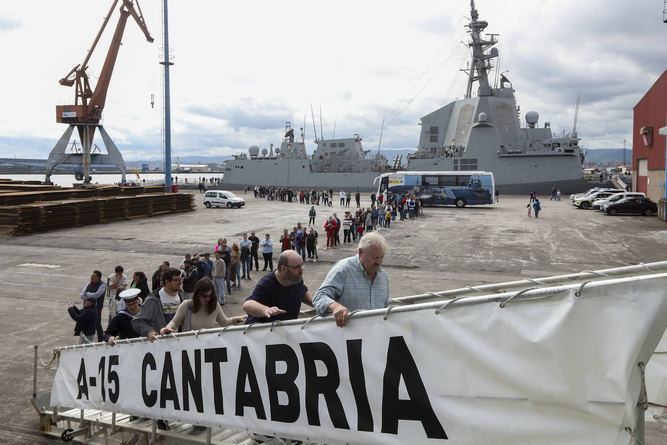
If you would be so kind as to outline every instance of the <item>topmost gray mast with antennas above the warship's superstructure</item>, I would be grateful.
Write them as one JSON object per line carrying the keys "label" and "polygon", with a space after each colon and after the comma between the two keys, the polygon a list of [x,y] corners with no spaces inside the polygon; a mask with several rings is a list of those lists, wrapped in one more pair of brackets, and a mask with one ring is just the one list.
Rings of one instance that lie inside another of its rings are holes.
{"label": "topmost gray mast with antennas above the warship's superstructure", "polygon": [[488,72],[492,69],[491,59],[498,57],[498,49],[492,48],[491,51],[485,53],[487,49],[496,45],[498,41],[494,35],[490,35],[490,39],[485,40],[481,37],[480,32],[484,31],[489,25],[484,20],[478,20],[480,17],[475,8],[475,0],[470,0],[470,24],[466,25],[470,28],[471,41],[468,46],[472,48],[472,61],[470,67],[466,71],[468,73],[468,87],[466,87],[466,99],[472,97],[472,84],[475,81],[480,83],[478,88],[478,96],[492,95],[491,85],[489,84]]}

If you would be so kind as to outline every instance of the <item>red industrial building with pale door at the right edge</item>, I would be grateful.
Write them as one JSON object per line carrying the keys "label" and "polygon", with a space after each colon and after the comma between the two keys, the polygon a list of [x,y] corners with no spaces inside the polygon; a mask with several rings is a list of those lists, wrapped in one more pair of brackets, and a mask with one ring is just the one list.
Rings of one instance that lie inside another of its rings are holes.
{"label": "red industrial building with pale door at the right edge", "polygon": [[665,143],[659,133],[667,125],[667,70],[634,106],[632,128],[633,191],[641,191],[653,201],[664,197]]}

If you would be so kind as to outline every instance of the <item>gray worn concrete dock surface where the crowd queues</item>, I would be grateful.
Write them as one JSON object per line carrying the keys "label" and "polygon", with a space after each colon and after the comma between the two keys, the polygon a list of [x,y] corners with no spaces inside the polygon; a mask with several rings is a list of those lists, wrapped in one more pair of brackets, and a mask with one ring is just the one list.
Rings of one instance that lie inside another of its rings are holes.
{"label": "gray worn concrete dock surface where the crowd queues", "polygon": [[[33,348],[39,344],[39,356],[46,362],[54,348],[77,342],[67,302],[80,306],[79,293],[93,270],[106,278],[121,265],[130,281],[139,270],[150,281],[161,262],[178,267],[185,253],[212,254],[218,238],[237,243],[251,230],[260,240],[271,235],[275,266],[283,229],[291,231],[298,221],[307,226],[310,205],[235,193],[245,198],[245,207],[207,209],[203,194],[195,191],[197,211],[0,239],[0,442],[60,442],[39,434],[30,404]],[[426,207],[416,219],[397,219],[380,232],[389,246],[383,268],[390,277],[391,296],[666,260],[667,240],[660,232],[667,225],[656,217],[609,216],[577,209],[568,197],[562,199],[545,197],[539,218],[534,213],[528,218],[528,197],[501,195],[493,205]],[[370,207],[368,193],[362,195],[362,204]],[[313,292],[336,261],[356,255],[356,243],[325,250],[324,221],[334,212],[342,219],[345,210],[338,199],[332,207],[315,205],[319,258],[307,262],[303,272]],[[242,280],[241,290],[227,296],[227,316],[243,314],[243,301],[267,273],[261,272],[261,252],[259,262],[251,280]],[[106,326],[106,308],[102,320]],[[50,389],[54,375],[55,369],[39,366],[38,392]],[[647,422],[644,443],[667,445],[666,425]]]}

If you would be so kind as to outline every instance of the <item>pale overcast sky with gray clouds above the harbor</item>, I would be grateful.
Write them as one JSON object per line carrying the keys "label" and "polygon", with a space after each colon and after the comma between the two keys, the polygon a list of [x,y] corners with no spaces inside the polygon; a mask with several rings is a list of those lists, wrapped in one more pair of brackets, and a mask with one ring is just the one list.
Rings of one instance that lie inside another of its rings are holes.
{"label": "pale overcast sky with gray clouds above the harbor", "polygon": [[[155,42],[129,19],[103,124],[125,161],[161,157],[159,0],[139,0]],[[0,12],[0,157],[47,157],[66,125],[59,85],[85,58],[111,0],[3,3]],[[577,131],[585,149],[632,147],[632,107],[667,68],[663,0],[477,0],[486,33],[499,34],[500,71],[522,116],[554,133]],[[89,69],[99,75],[114,11]],[[470,60],[464,0],[169,1],[174,155],[231,155],[279,145],[285,121],[304,125],[307,150],[325,137],[363,133],[364,147],[415,149],[420,118],[462,98]],[[496,70],[490,77],[495,79]],[[151,94],[155,107],[151,107]],[[95,140],[100,147],[99,137]],[[387,151],[390,154],[390,151]]]}

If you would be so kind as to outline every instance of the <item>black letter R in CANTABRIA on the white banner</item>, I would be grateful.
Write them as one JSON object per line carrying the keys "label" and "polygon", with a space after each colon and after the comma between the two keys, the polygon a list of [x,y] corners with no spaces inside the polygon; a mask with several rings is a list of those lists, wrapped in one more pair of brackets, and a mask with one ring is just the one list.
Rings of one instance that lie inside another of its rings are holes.
{"label": "black letter R in CANTABRIA on the white banner", "polygon": [[[320,426],[319,423],[319,394],[324,396],[331,423],[336,428],[350,429],[345,416],[343,404],[336,394],[340,386],[340,373],[336,354],[326,343],[301,343],[303,354],[303,372],[305,374],[305,412],[308,424]],[[327,375],[317,376],[315,360],[323,362],[327,368]]]}

